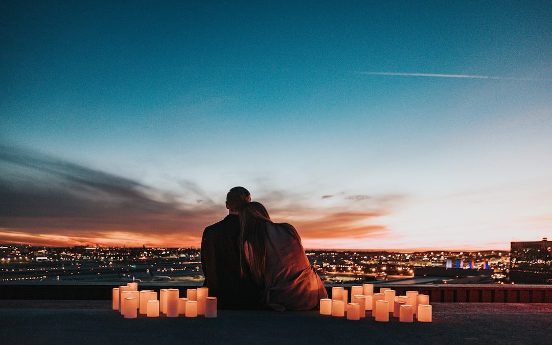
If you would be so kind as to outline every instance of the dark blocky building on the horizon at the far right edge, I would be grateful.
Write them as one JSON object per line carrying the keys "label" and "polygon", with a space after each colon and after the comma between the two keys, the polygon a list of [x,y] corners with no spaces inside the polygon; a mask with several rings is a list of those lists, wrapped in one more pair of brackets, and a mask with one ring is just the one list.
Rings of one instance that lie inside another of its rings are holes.
{"label": "dark blocky building on the horizon at the far right edge", "polygon": [[510,281],[552,283],[552,241],[511,242]]}

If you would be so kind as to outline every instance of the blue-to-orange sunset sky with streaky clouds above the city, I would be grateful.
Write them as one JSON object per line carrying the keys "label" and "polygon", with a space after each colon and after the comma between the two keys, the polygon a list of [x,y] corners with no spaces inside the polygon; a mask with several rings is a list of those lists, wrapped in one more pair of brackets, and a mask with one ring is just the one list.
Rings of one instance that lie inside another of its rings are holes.
{"label": "blue-to-orange sunset sky with streaky clouds above the city", "polygon": [[310,248],[552,237],[552,4],[0,3],[0,242],[198,246],[242,185]]}

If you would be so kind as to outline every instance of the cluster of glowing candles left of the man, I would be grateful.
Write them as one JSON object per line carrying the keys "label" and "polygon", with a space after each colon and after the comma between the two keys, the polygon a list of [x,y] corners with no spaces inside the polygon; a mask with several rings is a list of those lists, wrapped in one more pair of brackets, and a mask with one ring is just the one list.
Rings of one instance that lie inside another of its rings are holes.
{"label": "cluster of glowing candles left of the man", "polygon": [[179,298],[179,289],[161,289],[159,299],[153,290],[138,291],[138,283],[113,288],[112,309],[118,310],[125,319],[135,319],[137,314],[158,317],[160,312],[167,317],[216,317],[216,297],[209,297],[209,288],[187,289],[186,297]]}

